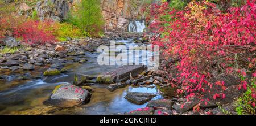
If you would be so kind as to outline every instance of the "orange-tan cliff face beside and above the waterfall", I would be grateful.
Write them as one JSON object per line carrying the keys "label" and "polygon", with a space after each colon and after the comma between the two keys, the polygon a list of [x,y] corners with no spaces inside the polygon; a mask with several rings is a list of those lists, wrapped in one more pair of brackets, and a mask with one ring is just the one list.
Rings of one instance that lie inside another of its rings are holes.
{"label": "orange-tan cliff face beside and above the waterfall", "polygon": [[101,0],[105,28],[125,30],[129,20],[142,20],[144,16],[141,10],[144,5],[141,0]]}

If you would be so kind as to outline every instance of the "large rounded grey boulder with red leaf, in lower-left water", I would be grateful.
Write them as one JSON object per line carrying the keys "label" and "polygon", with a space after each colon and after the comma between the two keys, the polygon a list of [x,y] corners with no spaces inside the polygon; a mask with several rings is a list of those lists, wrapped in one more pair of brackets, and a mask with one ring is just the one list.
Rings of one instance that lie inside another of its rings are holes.
{"label": "large rounded grey boulder with red leaf, in lower-left water", "polygon": [[58,85],[53,90],[51,98],[44,101],[46,105],[66,108],[79,106],[90,101],[91,94],[86,89],[75,85]]}

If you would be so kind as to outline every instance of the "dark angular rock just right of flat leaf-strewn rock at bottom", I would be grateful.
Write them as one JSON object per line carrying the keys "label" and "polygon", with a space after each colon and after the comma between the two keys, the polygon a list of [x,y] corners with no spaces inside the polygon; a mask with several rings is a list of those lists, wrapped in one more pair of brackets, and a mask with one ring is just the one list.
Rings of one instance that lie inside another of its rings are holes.
{"label": "dark angular rock just right of flat leaf-strewn rock at bottom", "polygon": [[197,101],[189,101],[185,102],[183,104],[183,108],[181,108],[181,105],[174,104],[172,108],[174,108],[179,113],[184,113],[188,110],[191,110],[194,106],[196,106],[199,102]]}

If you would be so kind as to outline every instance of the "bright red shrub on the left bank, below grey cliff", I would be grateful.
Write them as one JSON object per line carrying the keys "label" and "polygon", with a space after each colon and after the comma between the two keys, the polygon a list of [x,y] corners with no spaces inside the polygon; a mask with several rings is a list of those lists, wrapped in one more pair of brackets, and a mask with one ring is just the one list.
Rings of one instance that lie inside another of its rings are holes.
{"label": "bright red shrub on the left bank, below grey cliff", "polygon": [[14,36],[22,38],[23,42],[28,44],[44,44],[46,42],[54,42],[53,21],[35,21],[28,20],[14,28]]}

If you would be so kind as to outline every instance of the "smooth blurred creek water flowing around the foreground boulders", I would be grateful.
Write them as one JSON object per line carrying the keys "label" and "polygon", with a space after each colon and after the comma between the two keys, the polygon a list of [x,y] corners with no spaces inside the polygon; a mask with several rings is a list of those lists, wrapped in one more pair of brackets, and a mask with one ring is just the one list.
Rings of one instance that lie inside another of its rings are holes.
{"label": "smooth blurred creek water flowing around the foreground boulders", "polygon": [[[126,46],[134,45],[131,40],[118,41],[125,42]],[[85,57],[88,58],[88,62],[84,64],[67,64],[65,68],[68,68],[68,73],[54,77],[42,77],[43,79],[28,82],[12,82],[11,80],[15,76],[9,76],[10,81],[0,82],[0,114],[123,114],[124,112],[129,112],[147,105],[147,103],[144,105],[130,103],[124,98],[127,92],[157,94],[153,99],[170,98],[170,96],[160,94],[157,86],[155,88],[138,88],[130,85],[110,92],[106,89],[108,85],[94,84],[91,86],[94,89],[92,98],[86,105],[60,109],[43,104],[43,101],[50,97],[55,86],[67,82],[72,83],[75,73],[98,76],[101,73],[112,71],[119,67],[99,66],[97,63],[98,55],[99,53],[86,53]],[[44,67],[40,68],[43,69]],[[169,92],[168,94],[172,94],[174,91],[169,90]]]}

